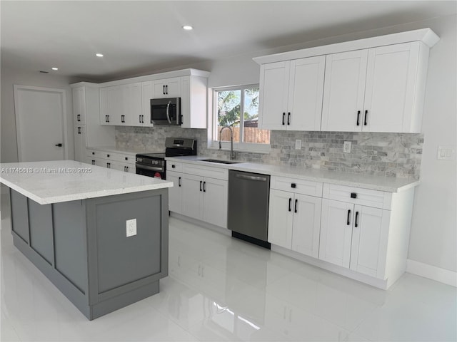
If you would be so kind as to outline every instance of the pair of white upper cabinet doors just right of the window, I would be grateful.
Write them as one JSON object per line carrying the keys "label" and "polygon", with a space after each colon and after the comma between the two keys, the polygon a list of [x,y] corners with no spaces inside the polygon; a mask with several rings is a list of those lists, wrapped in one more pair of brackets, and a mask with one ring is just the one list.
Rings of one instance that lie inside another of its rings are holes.
{"label": "pair of white upper cabinet doors just right of the window", "polygon": [[319,130],[324,70],[325,56],[262,65],[261,128]]}

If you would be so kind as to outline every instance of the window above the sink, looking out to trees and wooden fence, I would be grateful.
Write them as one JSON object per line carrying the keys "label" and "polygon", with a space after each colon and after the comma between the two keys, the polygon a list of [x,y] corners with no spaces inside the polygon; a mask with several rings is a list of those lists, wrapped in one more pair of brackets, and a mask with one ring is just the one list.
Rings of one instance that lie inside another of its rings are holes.
{"label": "window above the sink, looking out to trees and wooden fence", "polygon": [[214,89],[213,101],[212,147],[230,141],[230,130],[221,133],[229,126],[236,150],[268,151],[270,131],[258,128],[258,85]]}

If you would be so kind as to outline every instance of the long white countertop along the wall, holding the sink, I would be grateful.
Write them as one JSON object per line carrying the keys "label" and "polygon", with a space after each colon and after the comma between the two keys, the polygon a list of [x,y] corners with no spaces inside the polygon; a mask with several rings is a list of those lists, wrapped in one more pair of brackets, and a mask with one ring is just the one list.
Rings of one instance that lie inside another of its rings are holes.
{"label": "long white countertop along the wall, holding the sink", "polygon": [[385,192],[401,192],[419,184],[418,180],[408,180],[396,177],[378,177],[371,175],[361,175],[356,173],[345,173],[310,169],[293,166],[278,166],[268,164],[256,164],[252,162],[238,162],[236,164],[219,164],[216,162],[204,162],[204,159],[214,159],[211,157],[188,156],[188,157],[166,157],[166,160],[180,162],[190,162],[199,165],[212,167],[223,167],[230,170],[263,173],[265,175],[291,177],[301,180],[311,180],[314,182],[325,182],[336,185],[346,185],[349,187],[363,187],[364,189],[379,190]]}

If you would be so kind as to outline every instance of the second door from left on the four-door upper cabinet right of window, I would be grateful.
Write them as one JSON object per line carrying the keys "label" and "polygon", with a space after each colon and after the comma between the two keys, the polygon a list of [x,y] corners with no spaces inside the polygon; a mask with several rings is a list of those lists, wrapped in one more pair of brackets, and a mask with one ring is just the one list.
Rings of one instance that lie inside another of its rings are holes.
{"label": "second door from left on the four-door upper cabinet right of window", "polygon": [[321,130],[325,56],[291,61],[288,130]]}

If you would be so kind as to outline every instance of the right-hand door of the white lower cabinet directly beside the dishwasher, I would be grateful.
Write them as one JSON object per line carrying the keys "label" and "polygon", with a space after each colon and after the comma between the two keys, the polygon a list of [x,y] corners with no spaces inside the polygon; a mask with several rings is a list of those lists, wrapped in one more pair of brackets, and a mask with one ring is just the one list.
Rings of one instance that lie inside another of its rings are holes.
{"label": "right-hand door of the white lower cabinet directly beside the dishwasher", "polygon": [[322,199],[295,194],[293,200],[292,249],[318,258]]}

